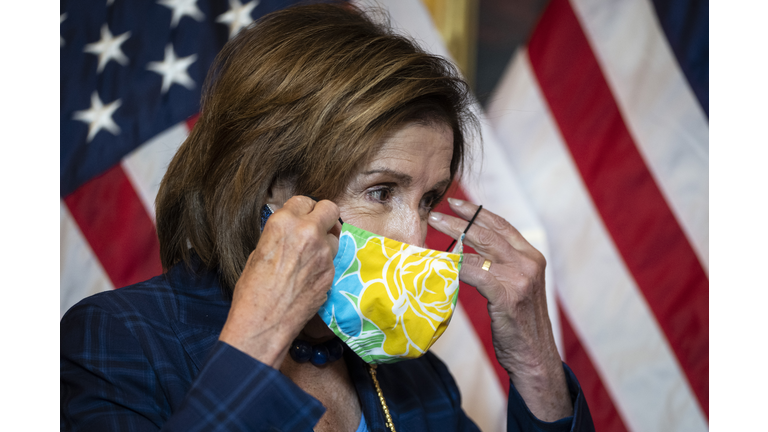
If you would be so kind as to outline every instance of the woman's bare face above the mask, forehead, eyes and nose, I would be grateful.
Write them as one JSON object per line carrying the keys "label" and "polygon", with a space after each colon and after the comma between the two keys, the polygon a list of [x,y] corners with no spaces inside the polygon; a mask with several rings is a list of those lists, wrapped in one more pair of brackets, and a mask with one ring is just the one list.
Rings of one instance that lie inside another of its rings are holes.
{"label": "woman's bare face above the mask, forehead, eyes and nose", "polygon": [[385,138],[336,204],[344,222],[424,246],[427,217],[450,185],[453,131],[444,123],[410,123]]}

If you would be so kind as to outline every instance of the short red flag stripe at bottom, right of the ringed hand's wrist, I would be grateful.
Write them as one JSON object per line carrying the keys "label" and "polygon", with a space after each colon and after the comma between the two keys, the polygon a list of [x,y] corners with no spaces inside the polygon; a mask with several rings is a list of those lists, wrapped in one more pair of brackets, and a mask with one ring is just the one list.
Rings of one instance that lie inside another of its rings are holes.
{"label": "short red flag stripe at bottom, right of the ringed hand's wrist", "polygon": [[592,360],[581,345],[568,317],[565,316],[559,304],[557,310],[560,315],[560,326],[563,330],[565,362],[579,380],[581,391],[587,405],[589,405],[592,421],[595,423],[595,430],[627,432],[627,427],[624,425],[619,412],[616,411],[613,400],[605,389],[597,369],[592,364]]}

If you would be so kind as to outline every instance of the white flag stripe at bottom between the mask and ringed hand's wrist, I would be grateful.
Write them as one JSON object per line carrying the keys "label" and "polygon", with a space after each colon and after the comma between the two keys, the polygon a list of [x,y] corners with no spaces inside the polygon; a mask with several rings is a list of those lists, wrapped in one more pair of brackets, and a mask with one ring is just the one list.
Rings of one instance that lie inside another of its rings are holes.
{"label": "white flag stripe at bottom between the mask and ringed hand's wrist", "polygon": [[451,325],[431,350],[448,366],[462,394],[461,407],[480,430],[507,430],[504,390],[460,303],[456,304]]}

